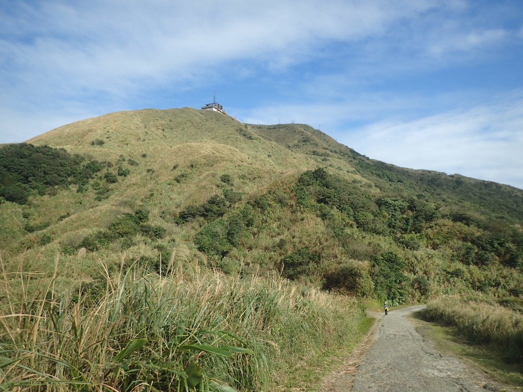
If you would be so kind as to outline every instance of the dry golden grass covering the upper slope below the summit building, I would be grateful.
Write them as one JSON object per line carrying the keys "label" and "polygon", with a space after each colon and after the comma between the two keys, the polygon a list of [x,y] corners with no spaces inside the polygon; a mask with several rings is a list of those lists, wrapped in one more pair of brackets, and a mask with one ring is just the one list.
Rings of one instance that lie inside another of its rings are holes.
{"label": "dry golden grass covering the upper slope below the summit building", "polygon": [[[55,195],[35,198],[32,205],[8,207],[11,210],[3,215],[9,219],[0,238],[0,244],[6,244],[4,250],[11,248],[16,253],[13,260],[5,255],[8,264],[27,263],[39,270],[49,269],[61,247],[77,246],[89,233],[107,228],[117,215],[132,213],[141,207],[149,211],[151,224],[167,229],[168,239],[190,243],[199,230],[198,224],[177,226],[169,222],[168,216],[175,217],[188,205],[203,203],[212,195],[221,194],[220,176],[223,174],[231,176],[234,190],[243,193],[244,201],[269,189],[287,189],[302,171],[317,166],[329,165],[340,175],[365,181],[354,170],[348,170],[347,162],[333,154],[324,162],[324,157],[306,153],[306,146],[296,147],[295,152],[288,148],[288,144],[295,144],[303,137],[320,143],[325,151],[342,148],[328,136],[300,124],[287,124],[278,130],[269,128],[242,124],[210,111],[146,109],[78,121],[29,140],[35,145],[63,147],[72,154],[112,163],[112,168],[104,169],[100,177],[106,171],[115,172],[118,165],[131,172],[109,185],[107,198],[103,201],[95,200],[93,189],[80,194],[72,187]],[[96,140],[104,143],[92,144]],[[129,159],[138,165],[130,166]],[[182,175],[185,177],[178,180]],[[48,222],[49,227],[24,235],[21,226],[26,221],[20,218],[20,210],[30,214],[28,223]],[[290,236],[295,239],[294,248],[306,245],[336,248],[325,241],[325,228],[317,218],[307,216],[300,222],[291,222],[289,218],[284,212],[275,220],[279,227],[267,227],[259,233],[260,238],[266,237],[267,246]],[[50,236],[51,243],[41,248],[38,242],[43,235]],[[309,238],[316,238],[315,243],[311,244]],[[118,262],[123,257],[121,251],[118,248],[111,250],[115,255],[107,255],[109,260]],[[256,252],[242,258],[247,264],[267,266],[281,256],[269,256],[267,261],[263,252],[259,255]],[[99,252],[98,257],[106,257],[103,253]],[[81,264],[89,262],[90,255],[87,256]],[[334,251],[332,257],[338,256]],[[61,256],[63,263],[75,263],[74,258]],[[78,272],[88,270],[82,267]],[[76,268],[74,272],[77,272]]]}

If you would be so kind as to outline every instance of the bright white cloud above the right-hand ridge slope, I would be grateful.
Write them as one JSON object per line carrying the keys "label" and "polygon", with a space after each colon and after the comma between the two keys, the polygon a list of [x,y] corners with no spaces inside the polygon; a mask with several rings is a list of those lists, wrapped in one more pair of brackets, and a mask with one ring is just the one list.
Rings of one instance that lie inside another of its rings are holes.
{"label": "bright white cloud above the right-hand ridge slope", "polygon": [[523,99],[347,131],[343,144],[397,166],[506,183],[523,189]]}

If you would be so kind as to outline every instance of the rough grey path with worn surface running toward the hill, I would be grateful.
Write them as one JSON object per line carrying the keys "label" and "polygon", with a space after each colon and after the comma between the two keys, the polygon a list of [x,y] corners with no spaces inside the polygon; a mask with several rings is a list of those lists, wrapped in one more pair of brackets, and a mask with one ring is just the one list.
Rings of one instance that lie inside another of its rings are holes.
{"label": "rough grey path with worn surface running toward the hill", "polygon": [[416,332],[407,315],[422,309],[396,309],[377,315],[376,324],[324,392],[360,391],[501,391],[501,386],[456,358],[438,352]]}

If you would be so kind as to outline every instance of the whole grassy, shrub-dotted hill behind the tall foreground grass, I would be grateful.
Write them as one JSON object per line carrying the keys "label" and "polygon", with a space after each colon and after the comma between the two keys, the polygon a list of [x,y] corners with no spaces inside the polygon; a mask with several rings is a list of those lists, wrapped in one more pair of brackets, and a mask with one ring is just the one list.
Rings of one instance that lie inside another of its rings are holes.
{"label": "whole grassy, shrub-dotted hill behind the tall foreground grass", "polygon": [[[396,302],[523,286],[523,191],[371,160],[309,125],[145,109],[27,143],[40,170],[26,177],[20,145],[0,156],[3,257],[46,271],[61,255],[67,284],[95,279],[100,258],[160,268],[181,252]],[[9,202],[16,191],[27,197]]]}

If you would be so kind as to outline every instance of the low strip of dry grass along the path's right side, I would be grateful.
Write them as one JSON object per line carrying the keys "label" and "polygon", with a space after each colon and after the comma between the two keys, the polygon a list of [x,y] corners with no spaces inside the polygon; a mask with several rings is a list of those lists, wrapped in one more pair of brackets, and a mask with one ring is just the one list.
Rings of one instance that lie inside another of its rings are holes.
{"label": "low strip of dry grass along the path's right side", "polygon": [[523,315],[514,310],[450,296],[428,303],[424,318],[456,326],[471,342],[493,343],[507,361],[523,364]]}

